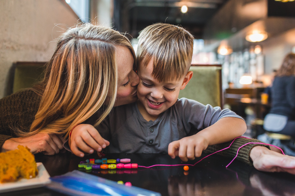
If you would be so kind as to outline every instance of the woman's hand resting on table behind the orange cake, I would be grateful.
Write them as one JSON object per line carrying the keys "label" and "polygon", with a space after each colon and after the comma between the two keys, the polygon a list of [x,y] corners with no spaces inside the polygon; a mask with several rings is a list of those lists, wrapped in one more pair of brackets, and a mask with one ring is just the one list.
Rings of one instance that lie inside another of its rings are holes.
{"label": "woman's hand resting on table behind the orange cake", "polygon": [[64,149],[64,139],[57,134],[38,133],[29,137],[10,138],[2,145],[2,152],[18,149],[18,145],[26,146],[33,154],[54,155]]}

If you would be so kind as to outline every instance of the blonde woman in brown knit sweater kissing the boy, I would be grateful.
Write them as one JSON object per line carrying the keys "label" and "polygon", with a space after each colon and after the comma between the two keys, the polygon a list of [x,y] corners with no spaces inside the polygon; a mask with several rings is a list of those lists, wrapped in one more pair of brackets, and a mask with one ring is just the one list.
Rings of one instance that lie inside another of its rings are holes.
{"label": "blonde woman in brown knit sweater kissing the boy", "polygon": [[[83,24],[67,30],[57,41],[44,80],[0,100],[1,151],[24,145],[32,153],[53,155],[63,149],[64,138],[76,125],[99,113],[96,126],[113,106],[136,101],[139,78],[134,62],[130,41],[111,28]],[[228,154],[255,141],[237,139]],[[239,160],[252,159],[259,170],[295,174],[295,160],[288,156],[253,144],[240,152],[246,158],[238,156]]]}

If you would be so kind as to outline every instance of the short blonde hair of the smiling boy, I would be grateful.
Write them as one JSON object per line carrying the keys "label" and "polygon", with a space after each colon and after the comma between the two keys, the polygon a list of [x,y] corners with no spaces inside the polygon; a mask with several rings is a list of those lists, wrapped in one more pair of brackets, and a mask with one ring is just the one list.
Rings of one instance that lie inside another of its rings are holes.
{"label": "short blonde hair of the smiling boy", "polygon": [[152,59],[152,75],[159,82],[179,80],[187,74],[194,45],[194,37],[187,30],[157,23],[144,28],[138,39],[137,65],[147,66]]}

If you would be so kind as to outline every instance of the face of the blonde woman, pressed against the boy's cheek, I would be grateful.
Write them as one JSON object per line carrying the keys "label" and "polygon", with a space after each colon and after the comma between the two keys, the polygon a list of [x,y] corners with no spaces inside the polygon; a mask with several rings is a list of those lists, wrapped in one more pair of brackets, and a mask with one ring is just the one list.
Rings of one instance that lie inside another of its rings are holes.
{"label": "face of the blonde woman, pressed against the boy's cheek", "polygon": [[116,47],[118,63],[118,89],[115,106],[130,104],[137,100],[139,77],[133,70],[133,56],[127,47]]}

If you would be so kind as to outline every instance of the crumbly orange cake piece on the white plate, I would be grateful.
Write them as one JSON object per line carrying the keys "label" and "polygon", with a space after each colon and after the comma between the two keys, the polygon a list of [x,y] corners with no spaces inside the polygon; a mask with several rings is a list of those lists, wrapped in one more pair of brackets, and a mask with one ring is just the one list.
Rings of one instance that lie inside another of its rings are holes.
{"label": "crumbly orange cake piece on the white plate", "polygon": [[0,182],[14,182],[19,178],[34,178],[38,174],[35,156],[27,147],[0,153]]}

